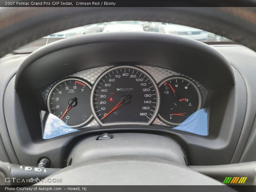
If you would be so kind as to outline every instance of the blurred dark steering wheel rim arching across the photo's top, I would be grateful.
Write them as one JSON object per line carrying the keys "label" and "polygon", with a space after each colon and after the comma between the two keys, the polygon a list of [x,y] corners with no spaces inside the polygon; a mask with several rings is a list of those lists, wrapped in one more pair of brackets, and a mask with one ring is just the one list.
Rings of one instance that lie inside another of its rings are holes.
{"label": "blurred dark steering wheel rim arching across the photo's top", "polygon": [[113,20],[149,20],[200,28],[256,51],[256,8],[21,7],[2,8],[0,57],[54,32]]}

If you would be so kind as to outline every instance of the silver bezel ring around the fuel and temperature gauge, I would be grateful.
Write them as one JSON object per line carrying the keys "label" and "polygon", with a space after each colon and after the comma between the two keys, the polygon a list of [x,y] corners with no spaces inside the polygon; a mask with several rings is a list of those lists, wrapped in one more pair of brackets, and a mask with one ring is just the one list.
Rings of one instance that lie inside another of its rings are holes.
{"label": "silver bezel ring around the fuel and temperature gauge", "polygon": [[[187,77],[184,77],[184,76],[177,76],[177,75],[166,77],[166,78],[162,79],[162,80],[158,83],[158,88],[160,88],[160,86],[161,86],[162,84],[164,84],[164,82],[169,81],[169,80],[172,80],[172,79],[183,79],[183,80],[186,80],[186,81],[188,81],[188,83],[190,83],[190,84],[195,88],[196,93],[197,93],[197,95],[198,95],[198,107],[197,107],[196,111],[198,111],[199,109],[201,109],[201,107],[202,107],[202,94],[201,94],[199,88],[196,86],[196,84],[195,84],[191,79],[189,79],[189,78],[187,78]],[[178,125],[180,125],[180,124],[183,123],[183,122],[182,122],[182,123],[172,123],[172,122],[170,122],[170,121],[167,121],[167,120],[165,120],[159,113],[158,113],[158,116],[157,116],[157,117],[158,117],[159,120],[162,121],[163,123],[165,123],[165,124],[167,124],[167,125],[171,125],[171,126],[178,126]],[[196,117],[196,116],[195,116],[195,117]],[[195,117],[194,117],[194,118],[195,118]],[[192,121],[194,118],[192,118],[190,121]],[[188,123],[189,123],[190,121],[188,121]]]}

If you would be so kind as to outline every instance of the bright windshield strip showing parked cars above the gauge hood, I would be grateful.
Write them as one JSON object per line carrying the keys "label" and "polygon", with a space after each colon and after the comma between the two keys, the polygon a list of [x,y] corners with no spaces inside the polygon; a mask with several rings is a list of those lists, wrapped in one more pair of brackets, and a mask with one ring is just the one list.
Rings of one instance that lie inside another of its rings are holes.
{"label": "bright windshield strip showing parked cars above the gauge hood", "polygon": [[[153,21],[111,21],[104,23],[96,23],[60,31],[48,36],[42,37],[32,43],[26,44],[16,50],[14,53],[31,53],[40,47],[50,44],[61,39],[92,34],[92,33],[107,33],[107,32],[122,32],[122,31],[136,31],[136,32],[156,32],[167,35],[176,35],[189,39],[194,39],[201,42],[232,42],[230,39],[219,36],[202,29],[192,28],[183,25],[172,23],[162,23]],[[233,42],[232,42],[233,43]],[[12,54],[11,54],[12,55]],[[7,56],[10,56],[7,55]]]}

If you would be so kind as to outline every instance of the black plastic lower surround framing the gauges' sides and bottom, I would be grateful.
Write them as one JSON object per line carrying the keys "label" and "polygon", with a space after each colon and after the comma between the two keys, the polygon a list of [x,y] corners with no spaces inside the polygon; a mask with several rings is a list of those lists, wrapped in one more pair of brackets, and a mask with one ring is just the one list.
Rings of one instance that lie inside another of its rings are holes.
{"label": "black plastic lower surround framing the gauges' sides and bottom", "polygon": [[[36,98],[31,93],[16,92],[14,78],[8,84],[4,97],[6,124],[20,163],[31,166],[35,166],[38,159],[47,157],[52,162],[51,167],[64,167],[69,152],[79,140],[104,132],[165,135],[182,146],[189,165],[229,164],[243,127],[246,109],[246,100],[240,100],[241,96],[246,98],[245,84],[236,69],[233,70],[236,86],[217,95],[216,102],[213,100],[209,136],[199,136],[161,125],[116,125],[86,127],[79,132],[43,140]],[[220,111],[219,108],[223,110]]]}

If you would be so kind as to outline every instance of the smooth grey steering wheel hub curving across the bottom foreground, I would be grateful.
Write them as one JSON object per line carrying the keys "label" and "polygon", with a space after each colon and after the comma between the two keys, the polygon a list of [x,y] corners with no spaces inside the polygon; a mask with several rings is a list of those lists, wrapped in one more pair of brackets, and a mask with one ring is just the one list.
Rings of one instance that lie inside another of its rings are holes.
{"label": "smooth grey steering wheel hub curving across the bottom foreground", "polygon": [[[189,175],[189,176],[188,176]],[[143,156],[109,156],[70,165],[35,185],[224,185],[186,166]],[[72,178],[72,179],[70,179]],[[234,191],[225,186],[226,191]]]}

